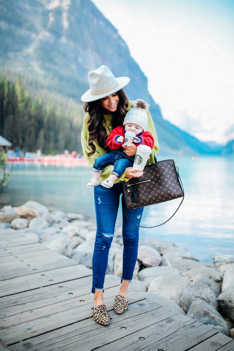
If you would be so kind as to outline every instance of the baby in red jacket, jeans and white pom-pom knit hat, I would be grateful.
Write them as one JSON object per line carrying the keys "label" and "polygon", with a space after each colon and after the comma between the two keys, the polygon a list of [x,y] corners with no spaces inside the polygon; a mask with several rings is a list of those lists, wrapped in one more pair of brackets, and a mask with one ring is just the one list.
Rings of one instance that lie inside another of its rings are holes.
{"label": "baby in red jacket, jeans and white pom-pom knit hat", "polygon": [[[123,121],[123,125],[113,129],[111,134],[106,140],[107,146],[112,152],[106,153],[104,155],[96,158],[93,165],[93,178],[87,184],[87,188],[93,188],[99,184],[105,188],[111,188],[114,185],[114,181],[119,179],[127,167],[133,166],[133,161],[130,157],[125,155],[119,150],[123,144],[125,132],[130,131],[136,133],[136,137],[133,143],[136,145],[144,144],[149,146],[151,149],[154,147],[154,138],[150,132],[146,132],[148,124],[148,104],[144,100],[137,99],[134,101],[131,110],[129,110]],[[128,146],[131,146],[128,145]],[[103,168],[114,165],[114,169],[111,176],[100,183],[100,176]]]}

